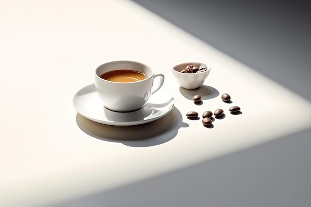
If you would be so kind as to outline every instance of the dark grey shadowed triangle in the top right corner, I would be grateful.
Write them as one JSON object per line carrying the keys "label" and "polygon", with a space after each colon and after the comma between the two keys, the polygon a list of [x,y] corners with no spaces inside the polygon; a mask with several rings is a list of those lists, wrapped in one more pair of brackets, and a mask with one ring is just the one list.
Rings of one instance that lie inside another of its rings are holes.
{"label": "dark grey shadowed triangle in the top right corner", "polygon": [[311,1],[132,1],[311,101]]}

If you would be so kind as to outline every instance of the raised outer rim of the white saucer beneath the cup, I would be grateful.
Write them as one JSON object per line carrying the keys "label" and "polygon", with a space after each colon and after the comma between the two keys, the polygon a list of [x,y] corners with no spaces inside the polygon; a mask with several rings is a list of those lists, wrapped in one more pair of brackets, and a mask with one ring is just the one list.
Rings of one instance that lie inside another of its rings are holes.
{"label": "raised outer rim of the white saucer beneath the cup", "polygon": [[[86,85],[82,88],[80,88],[76,94],[74,95],[73,97],[73,105],[74,105],[74,108],[75,110],[78,112],[78,114],[80,114],[81,116],[91,120],[91,121],[94,121],[94,122],[97,122],[97,123],[100,123],[100,124],[105,124],[105,125],[111,125],[111,126],[135,126],[135,125],[140,125],[140,124],[146,124],[146,123],[150,123],[150,122],[153,122],[153,121],[156,121],[157,119],[165,116],[166,114],[168,114],[173,108],[174,108],[174,105],[175,105],[175,100],[174,98],[170,96],[170,98],[172,99],[171,102],[167,105],[169,105],[169,108],[166,109],[166,110],[163,110],[161,111],[158,115],[156,115],[155,117],[153,118],[150,118],[150,119],[143,119],[143,120],[138,120],[138,121],[109,121],[109,120],[98,120],[98,119],[95,119],[95,118],[92,118],[90,116],[87,116],[86,114],[83,114],[80,110],[78,110],[78,105],[76,104],[76,99],[78,97],[78,93],[83,90],[84,88],[86,87],[91,87],[93,86],[94,90],[92,90],[92,92],[90,92],[90,94],[94,94],[96,93],[96,89],[95,89],[95,84],[89,84],[89,85]],[[156,92],[157,93],[157,92]],[[165,93],[163,91],[160,91],[160,93]],[[148,101],[147,101],[148,103]],[[146,104],[147,104],[146,103]],[[143,106],[144,107],[144,106]],[[143,108],[142,107],[142,108]],[[147,107],[147,106],[145,106]],[[153,107],[153,106],[149,106],[148,108],[156,108],[156,107]],[[157,109],[157,108],[156,108]],[[139,109],[140,110],[140,109]],[[148,116],[147,116],[148,117]],[[144,118],[147,118],[147,117],[144,117]]]}

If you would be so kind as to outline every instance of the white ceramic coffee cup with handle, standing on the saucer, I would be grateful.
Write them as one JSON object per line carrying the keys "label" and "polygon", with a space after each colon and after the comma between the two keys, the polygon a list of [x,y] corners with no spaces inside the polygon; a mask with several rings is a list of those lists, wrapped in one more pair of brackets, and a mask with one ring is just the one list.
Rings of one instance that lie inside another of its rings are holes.
{"label": "white ceramic coffee cup with handle, standing on the saucer", "polygon": [[[134,70],[147,77],[135,82],[113,82],[100,76],[112,70]],[[157,79],[154,83],[154,79]],[[140,109],[150,95],[161,88],[163,74],[156,74],[149,66],[135,61],[112,61],[98,66],[95,70],[95,88],[103,105],[112,111],[129,112]]]}

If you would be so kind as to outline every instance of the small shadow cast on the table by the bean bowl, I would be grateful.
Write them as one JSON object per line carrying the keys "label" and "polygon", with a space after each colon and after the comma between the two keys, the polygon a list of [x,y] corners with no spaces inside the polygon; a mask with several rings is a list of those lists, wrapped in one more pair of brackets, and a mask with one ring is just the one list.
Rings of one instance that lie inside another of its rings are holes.
{"label": "small shadow cast on the table by the bean bowl", "polygon": [[217,89],[206,85],[192,90],[179,87],[179,92],[188,100],[192,100],[194,95],[200,95],[202,100],[209,100],[219,96],[219,91]]}

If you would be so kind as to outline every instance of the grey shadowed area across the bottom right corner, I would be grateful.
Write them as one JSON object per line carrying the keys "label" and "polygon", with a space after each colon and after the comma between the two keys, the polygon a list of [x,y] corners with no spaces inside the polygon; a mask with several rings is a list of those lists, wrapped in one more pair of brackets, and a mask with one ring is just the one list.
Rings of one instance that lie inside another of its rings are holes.
{"label": "grey shadowed area across the bottom right corner", "polygon": [[310,133],[50,207],[310,207]]}

